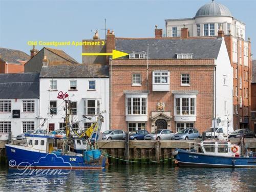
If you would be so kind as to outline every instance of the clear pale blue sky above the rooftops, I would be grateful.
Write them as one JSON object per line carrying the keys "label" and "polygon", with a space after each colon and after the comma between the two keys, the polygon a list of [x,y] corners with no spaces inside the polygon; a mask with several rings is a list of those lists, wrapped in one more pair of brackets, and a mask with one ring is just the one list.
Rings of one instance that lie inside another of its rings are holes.
{"label": "clear pale blue sky above the rooftops", "polygon": [[[36,1],[0,0],[0,47],[30,55],[28,41],[81,41],[92,39],[96,29],[105,38],[105,26],[117,37],[154,37],[155,25],[164,29],[164,19],[191,18],[210,0],[116,0],[116,1]],[[246,40],[251,39],[256,58],[256,0],[216,0],[246,24]],[[40,50],[44,46],[36,46]],[[82,47],[60,46],[78,62]]]}

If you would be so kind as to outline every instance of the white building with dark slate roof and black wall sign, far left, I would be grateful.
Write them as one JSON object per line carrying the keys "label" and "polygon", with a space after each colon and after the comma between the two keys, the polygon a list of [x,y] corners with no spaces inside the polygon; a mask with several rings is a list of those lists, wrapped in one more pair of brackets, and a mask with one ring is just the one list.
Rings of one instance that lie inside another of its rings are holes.
{"label": "white building with dark slate roof and black wall sign, far left", "polygon": [[39,74],[0,74],[0,140],[39,126]]}

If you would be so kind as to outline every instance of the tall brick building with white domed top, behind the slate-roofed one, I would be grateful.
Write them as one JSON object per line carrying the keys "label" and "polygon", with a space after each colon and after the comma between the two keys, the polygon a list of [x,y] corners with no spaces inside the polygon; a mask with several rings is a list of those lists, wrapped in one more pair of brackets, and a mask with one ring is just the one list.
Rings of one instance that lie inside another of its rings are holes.
{"label": "tall brick building with white domed top, behind the slate-roofed one", "polygon": [[184,26],[189,37],[211,38],[218,30],[225,42],[233,68],[233,127],[248,128],[250,116],[251,45],[245,40],[245,24],[233,17],[229,9],[215,1],[200,7],[195,17],[165,19],[165,31],[156,30],[156,37],[182,37]]}

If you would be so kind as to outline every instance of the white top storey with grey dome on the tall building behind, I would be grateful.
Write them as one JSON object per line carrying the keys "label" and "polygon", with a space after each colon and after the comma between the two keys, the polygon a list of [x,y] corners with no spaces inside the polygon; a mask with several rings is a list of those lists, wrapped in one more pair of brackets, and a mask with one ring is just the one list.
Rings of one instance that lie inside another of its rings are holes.
{"label": "white top storey with grey dome on the tall building behind", "polygon": [[245,24],[215,1],[203,5],[193,18],[165,19],[165,27],[167,37],[180,37],[184,27],[188,28],[190,37],[217,36],[222,27],[225,34],[245,39]]}

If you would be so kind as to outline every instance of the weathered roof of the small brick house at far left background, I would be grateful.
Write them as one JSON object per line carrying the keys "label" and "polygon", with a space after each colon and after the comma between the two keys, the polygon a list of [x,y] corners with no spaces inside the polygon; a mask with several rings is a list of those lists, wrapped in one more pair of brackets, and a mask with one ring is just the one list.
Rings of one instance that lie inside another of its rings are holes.
{"label": "weathered roof of the small brick house at far left background", "polygon": [[30,56],[23,51],[0,48],[0,59],[5,62],[20,64],[18,60],[28,61]]}

